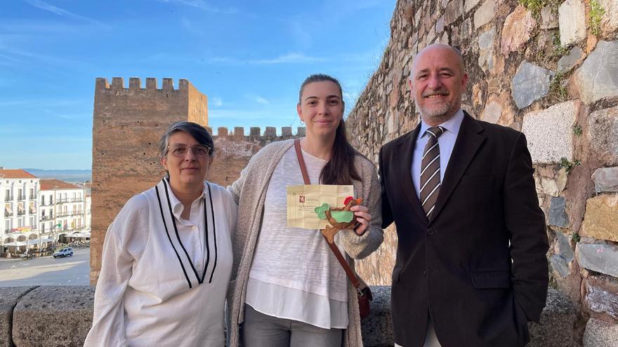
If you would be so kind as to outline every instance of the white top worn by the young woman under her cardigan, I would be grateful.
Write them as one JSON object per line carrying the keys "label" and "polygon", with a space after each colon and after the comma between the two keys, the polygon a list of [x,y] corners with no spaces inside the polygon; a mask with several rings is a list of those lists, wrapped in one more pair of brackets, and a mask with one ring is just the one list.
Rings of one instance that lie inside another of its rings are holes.
{"label": "white top worn by the young woman under her cardigan", "polygon": [[[305,151],[303,158],[310,182],[317,184],[327,161]],[[291,147],[270,177],[245,302],[256,311],[277,318],[326,329],[345,329],[345,271],[319,230],[287,226],[286,186],[298,184],[304,184],[303,175],[296,151]]]}

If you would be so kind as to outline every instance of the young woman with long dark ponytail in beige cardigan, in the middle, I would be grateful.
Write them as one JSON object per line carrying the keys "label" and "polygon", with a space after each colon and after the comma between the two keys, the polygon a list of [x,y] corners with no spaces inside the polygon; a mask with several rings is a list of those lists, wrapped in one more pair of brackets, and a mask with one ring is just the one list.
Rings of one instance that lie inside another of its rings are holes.
{"label": "young woman with long dark ponytail in beige cardigan, in the middle", "polygon": [[346,139],[341,85],[317,74],[303,82],[296,110],[306,135],[259,151],[228,187],[239,203],[230,283],[228,346],[362,346],[357,292],[322,234],[287,226],[286,186],[351,184],[360,225],[336,234],[350,268],[383,240],[375,166]]}

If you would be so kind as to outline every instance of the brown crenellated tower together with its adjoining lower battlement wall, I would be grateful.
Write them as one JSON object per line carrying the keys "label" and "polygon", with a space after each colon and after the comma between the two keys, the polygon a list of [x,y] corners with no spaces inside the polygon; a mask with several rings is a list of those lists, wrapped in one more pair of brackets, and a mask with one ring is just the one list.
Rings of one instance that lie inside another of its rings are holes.
{"label": "brown crenellated tower together with its adjoining lower battlement wall", "polygon": [[[101,250],[107,226],[131,196],[145,191],[165,175],[159,163],[159,137],[176,121],[192,121],[207,127],[208,99],[192,84],[180,79],[177,89],[171,79],[163,79],[161,89],[155,79],[146,79],[142,88],[140,79],[114,77],[110,86],[106,79],[96,79],[93,111],[93,186],[91,283],[94,285],[100,271]],[[276,129],[236,127],[233,132],[218,128],[213,135],[215,158],[207,179],[228,186],[240,175],[249,159],[259,149],[273,141],[302,136],[290,127]]]}

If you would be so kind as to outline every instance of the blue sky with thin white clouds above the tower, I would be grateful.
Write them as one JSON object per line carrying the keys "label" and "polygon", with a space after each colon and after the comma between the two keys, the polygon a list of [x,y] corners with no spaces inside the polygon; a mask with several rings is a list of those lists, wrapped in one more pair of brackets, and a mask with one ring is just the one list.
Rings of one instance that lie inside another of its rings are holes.
{"label": "blue sky with thin white clouds above the tower", "polygon": [[188,79],[208,95],[213,128],[296,128],[298,86],[313,73],[341,81],[349,111],[395,2],[3,1],[0,166],[91,168],[96,77]]}

